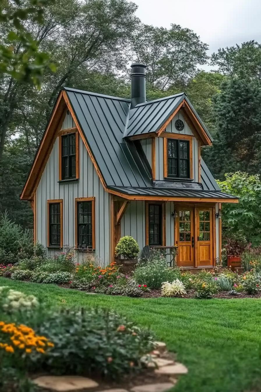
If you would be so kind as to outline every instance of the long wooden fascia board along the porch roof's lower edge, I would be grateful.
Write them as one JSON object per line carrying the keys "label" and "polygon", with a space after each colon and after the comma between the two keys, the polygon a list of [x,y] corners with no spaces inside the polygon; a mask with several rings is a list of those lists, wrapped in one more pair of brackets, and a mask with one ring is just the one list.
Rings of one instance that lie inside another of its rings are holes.
{"label": "long wooden fascia board along the porch roof's lower edge", "polygon": [[238,199],[223,199],[223,198],[189,198],[189,197],[171,197],[171,196],[133,196],[121,192],[113,191],[112,189],[105,189],[106,192],[127,200],[152,200],[152,201],[184,201],[186,202],[202,202],[202,203],[238,203]]}

